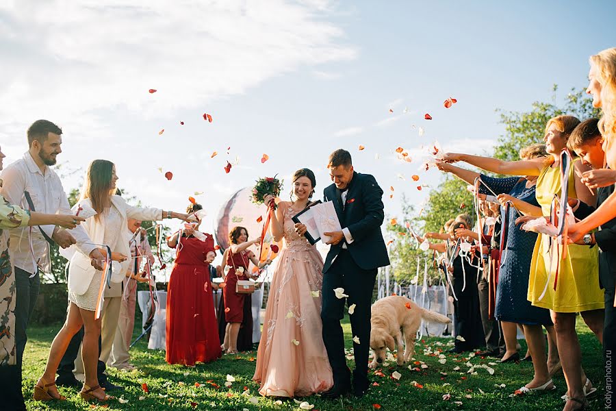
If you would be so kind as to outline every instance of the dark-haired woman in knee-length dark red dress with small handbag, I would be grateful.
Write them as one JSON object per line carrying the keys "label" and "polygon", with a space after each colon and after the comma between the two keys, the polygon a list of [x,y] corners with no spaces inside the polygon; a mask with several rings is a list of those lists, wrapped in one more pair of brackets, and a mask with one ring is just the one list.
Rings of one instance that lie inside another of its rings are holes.
{"label": "dark-haired woman in knee-length dark red dress with small handbag", "polygon": [[244,227],[233,227],[229,233],[229,249],[224,251],[222,260],[224,261],[224,272],[227,276],[224,279],[222,295],[224,297],[224,319],[227,321],[227,329],[224,333],[224,343],[220,347],[228,354],[238,353],[238,333],[240,325],[244,319],[244,299],[245,294],[235,291],[235,284],[238,280],[252,278],[248,272],[248,264],[253,262],[261,269],[270,264],[271,260],[259,263],[259,259],[253,251],[247,250],[251,245],[258,245],[261,238],[248,241],[248,231]]}

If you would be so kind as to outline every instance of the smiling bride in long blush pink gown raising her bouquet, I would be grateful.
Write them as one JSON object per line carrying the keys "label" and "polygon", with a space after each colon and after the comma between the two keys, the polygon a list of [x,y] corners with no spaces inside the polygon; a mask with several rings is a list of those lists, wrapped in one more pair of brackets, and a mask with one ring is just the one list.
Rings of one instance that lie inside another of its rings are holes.
{"label": "smiling bride in long blush pink gown raising her bouquet", "polygon": [[[285,245],[274,266],[253,376],[264,396],[305,397],[333,385],[320,316],[323,259],[296,234],[292,221],[309,203],[315,186],[312,171],[296,171],[296,201],[281,201],[277,211],[271,211],[272,235],[275,240],[284,236]],[[266,196],[266,203],[272,199]]]}

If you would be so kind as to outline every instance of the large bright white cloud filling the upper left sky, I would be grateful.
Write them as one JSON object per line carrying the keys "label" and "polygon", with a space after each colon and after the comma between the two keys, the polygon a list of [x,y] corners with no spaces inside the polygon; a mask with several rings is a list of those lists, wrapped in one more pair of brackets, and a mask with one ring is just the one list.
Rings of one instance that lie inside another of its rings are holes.
{"label": "large bright white cloud filling the upper left sky", "polygon": [[36,118],[105,136],[111,114],[206,112],[281,73],[357,55],[338,43],[326,1],[126,3],[0,5],[0,138],[23,136]]}

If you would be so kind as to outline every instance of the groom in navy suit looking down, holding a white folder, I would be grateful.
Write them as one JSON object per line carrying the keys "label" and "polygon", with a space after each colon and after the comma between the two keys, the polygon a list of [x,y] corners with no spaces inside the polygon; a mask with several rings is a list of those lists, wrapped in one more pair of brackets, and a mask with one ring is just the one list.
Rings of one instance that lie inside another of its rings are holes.
{"label": "groom in navy suit looking down, holding a white folder", "polygon": [[346,303],[355,306],[350,314],[355,353],[352,390],[362,397],[368,382],[370,352],[370,303],[378,267],[389,265],[381,224],[383,224],[383,190],[369,174],[353,170],[350,153],[339,149],[329,156],[328,166],[333,184],[325,188],[325,201],[333,201],[342,231],[324,233],[331,245],[323,266],[323,341],[333,371],[334,385],[322,397],[337,398],[351,390],[350,370],[344,355],[344,334],[340,320],[344,317],[345,299],[336,297],[334,289],[344,288]]}

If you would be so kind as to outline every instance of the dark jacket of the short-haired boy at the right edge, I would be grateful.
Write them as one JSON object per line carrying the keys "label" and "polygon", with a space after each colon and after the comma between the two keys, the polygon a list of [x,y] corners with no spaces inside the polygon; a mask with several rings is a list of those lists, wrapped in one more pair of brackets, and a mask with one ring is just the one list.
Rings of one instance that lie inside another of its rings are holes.
{"label": "dark jacket of the short-haired boy at the right edge", "polygon": [[[614,185],[599,188],[597,194],[600,206],[614,192]],[[599,280],[603,288],[614,288],[616,278],[616,219],[601,225],[595,232],[595,241],[599,246]]]}

